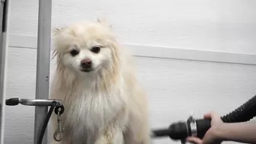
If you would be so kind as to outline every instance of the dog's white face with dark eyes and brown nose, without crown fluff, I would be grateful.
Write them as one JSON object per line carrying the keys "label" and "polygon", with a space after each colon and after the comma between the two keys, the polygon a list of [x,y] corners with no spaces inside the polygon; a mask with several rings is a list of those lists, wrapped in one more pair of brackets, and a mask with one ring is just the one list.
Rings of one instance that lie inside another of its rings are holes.
{"label": "dog's white face with dark eyes and brown nose, without crown fluff", "polygon": [[78,72],[97,71],[111,63],[111,50],[98,40],[71,43],[63,53],[62,62]]}

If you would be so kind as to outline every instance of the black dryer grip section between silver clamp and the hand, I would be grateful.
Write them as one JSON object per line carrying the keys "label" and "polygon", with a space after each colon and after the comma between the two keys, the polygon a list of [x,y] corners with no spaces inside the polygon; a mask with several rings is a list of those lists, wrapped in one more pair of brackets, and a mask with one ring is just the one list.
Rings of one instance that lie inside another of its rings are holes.
{"label": "black dryer grip section between silver clamp and the hand", "polygon": [[199,119],[197,122],[197,137],[203,139],[203,136],[210,129],[211,120],[210,119]]}

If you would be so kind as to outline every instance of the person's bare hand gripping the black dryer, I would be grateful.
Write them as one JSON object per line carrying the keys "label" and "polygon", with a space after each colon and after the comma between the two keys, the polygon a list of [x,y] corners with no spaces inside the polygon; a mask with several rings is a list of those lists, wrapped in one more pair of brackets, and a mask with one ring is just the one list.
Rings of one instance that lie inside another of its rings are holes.
{"label": "person's bare hand gripping the black dryer", "polygon": [[219,144],[222,139],[218,136],[218,130],[222,126],[223,122],[219,115],[216,113],[205,114],[205,119],[211,119],[211,127],[203,136],[203,139],[199,139],[194,136],[187,137],[187,141],[194,144]]}

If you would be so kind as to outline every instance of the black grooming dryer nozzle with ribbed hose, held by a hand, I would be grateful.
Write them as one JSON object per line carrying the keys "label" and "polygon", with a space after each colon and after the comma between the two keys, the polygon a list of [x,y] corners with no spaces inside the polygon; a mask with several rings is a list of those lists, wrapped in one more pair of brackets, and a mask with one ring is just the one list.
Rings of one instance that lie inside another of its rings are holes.
{"label": "black grooming dryer nozzle with ribbed hose, held by a hand", "polygon": [[[247,101],[242,106],[226,116],[221,117],[224,123],[238,123],[251,120],[256,116],[256,95]],[[187,136],[197,136],[202,139],[207,130],[210,129],[210,119],[194,119],[191,115],[187,121],[179,121],[172,123],[171,126],[165,129],[153,130],[152,137],[168,136],[173,140],[181,140],[185,143]]]}

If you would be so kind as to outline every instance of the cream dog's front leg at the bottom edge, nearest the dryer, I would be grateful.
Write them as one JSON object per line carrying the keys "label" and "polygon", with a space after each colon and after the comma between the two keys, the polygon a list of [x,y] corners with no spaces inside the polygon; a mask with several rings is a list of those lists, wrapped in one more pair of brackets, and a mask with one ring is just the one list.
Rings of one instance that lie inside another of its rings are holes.
{"label": "cream dog's front leg at the bottom edge, nearest the dryer", "polygon": [[123,144],[123,131],[111,126],[98,137],[94,144]]}

